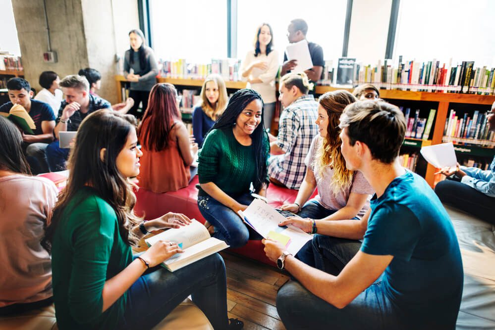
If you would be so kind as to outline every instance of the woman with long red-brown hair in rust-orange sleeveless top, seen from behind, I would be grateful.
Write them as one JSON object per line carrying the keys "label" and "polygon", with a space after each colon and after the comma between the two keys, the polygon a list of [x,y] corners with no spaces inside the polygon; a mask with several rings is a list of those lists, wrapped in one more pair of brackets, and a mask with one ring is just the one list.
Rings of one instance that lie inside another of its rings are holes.
{"label": "woman with long red-brown hair in rust-orange sleeveless top, seen from behind", "polygon": [[171,84],[156,84],[139,124],[141,170],[138,186],[153,192],[175,191],[189,184],[189,165],[198,151],[180,120],[177,91]]}

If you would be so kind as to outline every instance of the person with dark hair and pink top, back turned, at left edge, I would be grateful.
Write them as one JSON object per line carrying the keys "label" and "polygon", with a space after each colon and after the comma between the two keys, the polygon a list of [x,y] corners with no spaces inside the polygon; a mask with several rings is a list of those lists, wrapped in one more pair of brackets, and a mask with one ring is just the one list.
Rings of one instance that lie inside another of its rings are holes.
{"label": "person with dark hair and pink top, back turned, at left edge", "polygon": [[50,255],[41,246],[57,189],[30,176],[17,127],[0,116],[0,315],[52,304]]}

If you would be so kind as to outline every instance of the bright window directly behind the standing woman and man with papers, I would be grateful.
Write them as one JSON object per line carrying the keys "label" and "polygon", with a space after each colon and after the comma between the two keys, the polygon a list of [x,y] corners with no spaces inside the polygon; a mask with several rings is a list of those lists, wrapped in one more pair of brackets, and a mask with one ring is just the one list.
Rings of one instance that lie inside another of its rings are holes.
{"label": "bright window directly behind the standing woman and man with papers", "polygon": [[253,49],[256,28],[269,23],[274,31],[274,46],[283,58],[287,41],[287,26],[294,18],[308,23],[307,39],[323,47],[326,60],[342,55],[346,0],[238,0],[237,57],[244,59]]}

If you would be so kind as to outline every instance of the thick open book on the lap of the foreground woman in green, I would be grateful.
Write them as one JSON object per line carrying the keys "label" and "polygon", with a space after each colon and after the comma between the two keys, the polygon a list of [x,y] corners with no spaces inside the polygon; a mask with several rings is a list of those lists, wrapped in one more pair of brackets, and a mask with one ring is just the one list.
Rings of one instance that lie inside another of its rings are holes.
{"label": "thick open book on the lap of the foreground woman in green", "polygon": [[195,261],[208,257],[228,247],[227,243],[215,237],[211,237],[205,226],[195,219],[187,226],[178,229],[168,229],[163,233],[147,238],[144,241],[152,246],[159,240],[172,241],[179,244],[184,250],[177,253],[162,263],[170,272],[174,272]]}

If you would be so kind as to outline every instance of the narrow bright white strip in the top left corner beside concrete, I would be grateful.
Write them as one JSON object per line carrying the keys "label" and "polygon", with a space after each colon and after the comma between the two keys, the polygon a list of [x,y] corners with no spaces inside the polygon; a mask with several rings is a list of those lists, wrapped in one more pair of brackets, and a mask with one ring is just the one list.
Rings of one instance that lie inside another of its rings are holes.
{"label": "narrow bright white strip in the top left corner beside concrete", "polygon": [[0,50],[7,50],[11,54],[19,56],[21,49],[19,47],[19,40],[17,39],[17,29],[15,27],[11,0],[0,0],[0,8]]}

